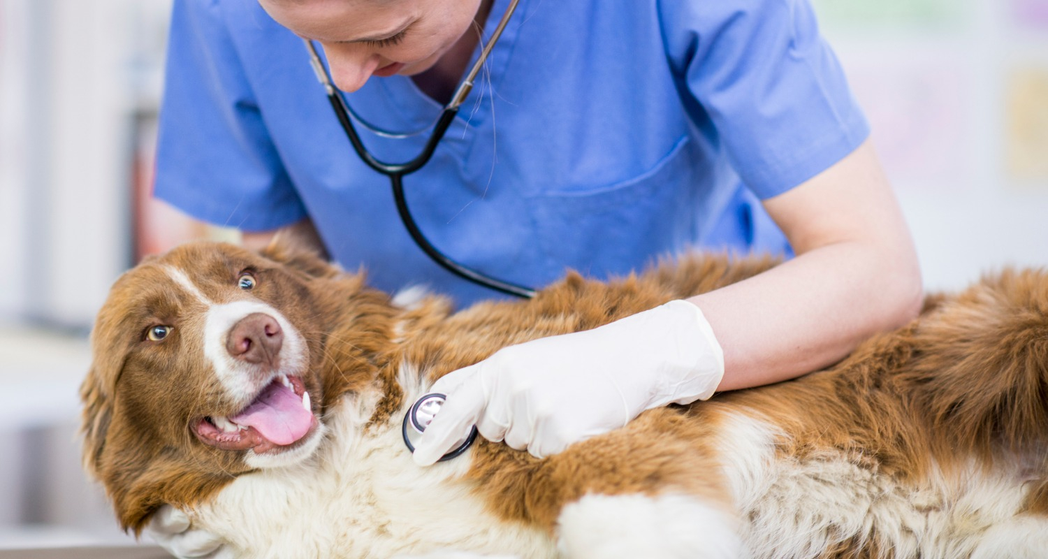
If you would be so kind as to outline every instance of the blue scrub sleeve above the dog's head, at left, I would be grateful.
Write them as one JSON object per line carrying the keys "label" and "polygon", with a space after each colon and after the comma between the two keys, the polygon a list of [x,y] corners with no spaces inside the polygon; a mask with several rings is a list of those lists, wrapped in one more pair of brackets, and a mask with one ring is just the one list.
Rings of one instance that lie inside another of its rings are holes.
{"label": "blue scrub sleeve above the dog's head, at left", "polygon": [[306,211],[269,138],[220,4],[176,2],[172,13],[157,195],[213,223],[277,229]]}

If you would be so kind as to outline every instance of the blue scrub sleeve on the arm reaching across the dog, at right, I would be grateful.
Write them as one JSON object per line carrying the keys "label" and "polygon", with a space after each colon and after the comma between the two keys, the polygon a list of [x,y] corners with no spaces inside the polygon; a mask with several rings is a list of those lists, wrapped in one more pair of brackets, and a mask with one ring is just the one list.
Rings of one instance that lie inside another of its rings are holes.
{"label": "blue scrub sleeve on the arm reaching across the dog, at right", "polygon": [[667,52],[746,186],[766,199],[869,134],[805,1],[662,2]]}

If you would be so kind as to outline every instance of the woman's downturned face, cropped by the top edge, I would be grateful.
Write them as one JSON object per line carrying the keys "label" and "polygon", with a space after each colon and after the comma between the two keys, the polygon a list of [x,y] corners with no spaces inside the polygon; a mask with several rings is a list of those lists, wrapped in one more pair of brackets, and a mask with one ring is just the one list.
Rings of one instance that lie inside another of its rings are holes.
{"label": "woman's downturned face, cropped by the top edge", "polygon": [[259,0],[278,23],[324,47],[334,85],[430,69],[473,23],[482,0]]}

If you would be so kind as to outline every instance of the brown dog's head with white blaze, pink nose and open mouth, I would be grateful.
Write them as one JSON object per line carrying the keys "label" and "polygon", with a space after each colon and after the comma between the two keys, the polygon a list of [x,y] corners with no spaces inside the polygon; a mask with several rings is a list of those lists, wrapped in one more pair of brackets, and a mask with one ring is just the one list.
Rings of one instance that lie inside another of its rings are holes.
{"label": "brown dog's head with white blaze, pink nose and open mouth", "polygon": [[122,276],[81,390],[85,466],[121,523],[138,532],[163,503],[310,456],[327,332],[359,292],[359,278],[281,246],[191,243]]}

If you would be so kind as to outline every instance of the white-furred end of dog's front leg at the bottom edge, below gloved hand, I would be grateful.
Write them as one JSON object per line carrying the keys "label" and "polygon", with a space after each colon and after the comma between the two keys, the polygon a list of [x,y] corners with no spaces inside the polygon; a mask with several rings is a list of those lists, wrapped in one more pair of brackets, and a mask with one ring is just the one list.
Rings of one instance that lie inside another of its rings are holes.
{"label": "white-furred end of dog's front leg at the bottom edge, below gloved hand", "polygon": [[742,542],[730,515],[689,495],[586,495],[561,511],[558,549],[570,559],[730,559]]}

